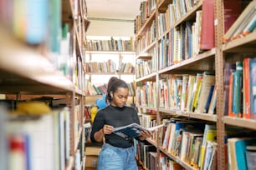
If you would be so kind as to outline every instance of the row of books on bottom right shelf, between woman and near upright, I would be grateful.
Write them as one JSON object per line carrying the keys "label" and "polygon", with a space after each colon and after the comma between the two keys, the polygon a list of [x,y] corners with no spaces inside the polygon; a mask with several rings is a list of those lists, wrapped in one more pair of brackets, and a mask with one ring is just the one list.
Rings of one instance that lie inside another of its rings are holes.
{"label": "row of books on bottom right shelf, between woman and near upright", "polygon": [[171,118],[163,119],[161,148],[193,168],[207,169],[216,166],[216,127],[198,121]]}

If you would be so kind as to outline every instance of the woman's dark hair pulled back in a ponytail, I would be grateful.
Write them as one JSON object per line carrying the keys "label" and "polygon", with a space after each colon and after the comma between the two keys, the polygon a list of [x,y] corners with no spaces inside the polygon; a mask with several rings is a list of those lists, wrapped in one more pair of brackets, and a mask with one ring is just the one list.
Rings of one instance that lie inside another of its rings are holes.
{"label": "woman's dark hair pulled back in a ponytail", "polygon": [[110,92],[114,93],[117,90],[117,88],[119,88],[119,87],[128,88],[128,85],[124,80],[121,80],[118,77],[110,77],[110,80],[109,80],[108,86],[107,86],[107,93],[105,96],[106,103],[110,103],[110,101],[112,100]]}

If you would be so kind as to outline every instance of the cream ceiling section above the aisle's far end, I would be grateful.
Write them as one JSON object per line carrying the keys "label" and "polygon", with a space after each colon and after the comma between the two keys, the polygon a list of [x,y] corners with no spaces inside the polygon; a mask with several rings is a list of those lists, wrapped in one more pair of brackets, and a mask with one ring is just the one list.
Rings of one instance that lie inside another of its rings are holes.
{"label": "cream ceiling section above the aisle's far end", "polygon": [[134,20],[142,0],[86,0],[89,19]]}

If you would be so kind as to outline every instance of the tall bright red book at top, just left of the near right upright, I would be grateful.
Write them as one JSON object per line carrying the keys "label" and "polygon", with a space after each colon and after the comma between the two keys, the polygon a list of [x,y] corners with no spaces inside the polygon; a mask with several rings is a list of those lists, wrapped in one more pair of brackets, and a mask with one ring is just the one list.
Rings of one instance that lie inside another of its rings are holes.
{"label": "tall bright red book at top, just left of the near right upright", "polygon": [[203,0],[200,49],[212,49],[214,43],[214,0]]}

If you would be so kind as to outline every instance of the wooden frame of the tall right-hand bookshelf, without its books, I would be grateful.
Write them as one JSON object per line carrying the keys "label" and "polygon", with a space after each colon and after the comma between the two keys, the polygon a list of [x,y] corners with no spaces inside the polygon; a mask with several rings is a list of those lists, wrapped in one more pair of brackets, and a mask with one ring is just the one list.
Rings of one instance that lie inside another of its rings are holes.
{"label": "wooden frame of the tall right-hand bookshelf, without its books", "polygon": [[[149,55],[151,49],[156,47],[156,53],[159,55],[161,40],[165,39],[169,36],[174,28],[182,25],[189,20],[194,21],[197,16],[197,11],[202,10],[203,2],[202,0],[197,1],[193,7],[187,11],[181,18],[177,19],[173,25],[166,25],[161,26],[158,23],[158,16],[161,13],[166,13],[168,10],[169,4],[171,4],[172,0],[161,0],[155,1],[156,2],[156,9],[153,13],[154,18],[152,15],[146,23],[144,23],[141,30],[136,33],[136,40],[143,37],[146,33],[147,28],[151,27],[151,23],[156,21],[156,41],[151,42],[147,45],[144,49],[136,49],[136,60],[151,60],[152,56]],[[177,1],[176,1],[177,2]],[[186,1],[187,2],[187,1]],[[246,36],[242,36],[236,38],[229,42],[223,42],[222,38],[224,35],[224,1],[222,0],[214,0],[214,40],[215,44],[212,49],[208,49],[206,51],[199,52],[196,56],[184,59],[177,63],[172,63],[168,66],[163,68],[159,65],[160,58],[156,58],[156,65],[157,69],[156,72],[152,72],[145,77],[137,77],[136,82],[156,82],[156,107],[143,107],[143,106],[136,106],[138,108],[145,108],[147,110],[156,111],[157,122],[161,123],[162,117],[187,117],[187,119],[198,120],[198,122],[206,122],[211,123],[216,126],[217,128],[217,143],[218,143],[218,168],[219,170],[227,169],[227,162],[228,160],[225,155],[225,135],[226,135],[226,128],[227,127],[236,127],[236,128],[248,128],[251,130],[255,129],[255,120],[254,119],[246,119],[242,117],[228,117],[224,115],[224,107],[225,107],[225,98],[224,98],[224,72],[223,66],[226,62],[235,61],[235,60],[243,60],[244,56],[255,57],[255,44],[256,44],[256,32],[253,31]],[[179,4],[180,5],[180,4]],[[243,10],[242,10],[243,11]],[[161,35],[158,34],[158,29],[160,27],[166,27],[166,31],[163,32]],[[169,37],[168,37],[169,38]],[[170,41],[170,39],[167,39]],[[172,46],[173,44],[171,44]],[[138,45],[138,47],[141,47]],[[164,49],[166,50],[166,49]],[[168,49],[169,50],[169,49]],[[170,51],[168,51],[170,52]],[[239,54],[241,57],[238,57]],[[235,56],[235,57],[233,57]],[[233,58],[232,58],[233,57]],[[197,74],[199,72],[215,72],[215,86],[217,87],[217,99],[216,99],[216,112],[214,114],[208,113],[197,113],[197,112],[186,112],[179,109],[173,109],[172,107],[160,107],[160,79],[165,78],[166,75],[178,75],[178,74]],[[143,113],[141,113],[143,114]],[[161,143],[157,142],[156,148],[158,153],[165,153],[165,155],[169,158],[172,158],[174,161],[182,165],[183,168],[186,169],[197,169],[193,168],[192,165],[188,163],[182,162],[180,158],[173,157],[170,153],[166,152],[166,149],[161,148]],[[159,155],[159,154],[158,154]],[[161,169],[158,167],[158,169]]]}

